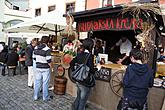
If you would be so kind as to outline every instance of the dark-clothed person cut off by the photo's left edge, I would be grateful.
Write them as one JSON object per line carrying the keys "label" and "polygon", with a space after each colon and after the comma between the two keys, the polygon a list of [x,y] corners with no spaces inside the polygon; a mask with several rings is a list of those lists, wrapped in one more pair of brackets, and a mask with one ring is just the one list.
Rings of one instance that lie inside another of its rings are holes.
{"label": "dark-clothed person cut off by the photo's left edge", "polygon": [[5,76],[7,54],[8,54],[8,47],[4,45],[3,50],[0,52],[0,66],[1,66],[2,76]]}

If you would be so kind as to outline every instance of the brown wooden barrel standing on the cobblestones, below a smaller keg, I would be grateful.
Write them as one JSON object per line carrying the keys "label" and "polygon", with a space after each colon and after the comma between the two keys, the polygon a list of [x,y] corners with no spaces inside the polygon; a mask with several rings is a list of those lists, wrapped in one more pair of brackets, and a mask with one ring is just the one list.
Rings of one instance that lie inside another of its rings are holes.
{"label": "brown wooden barrel standing on the cobblestones, below a smaller keg", "polygon": [[64,95],[66,91],[67,78],[56,76],[54,79],[54,93]]}

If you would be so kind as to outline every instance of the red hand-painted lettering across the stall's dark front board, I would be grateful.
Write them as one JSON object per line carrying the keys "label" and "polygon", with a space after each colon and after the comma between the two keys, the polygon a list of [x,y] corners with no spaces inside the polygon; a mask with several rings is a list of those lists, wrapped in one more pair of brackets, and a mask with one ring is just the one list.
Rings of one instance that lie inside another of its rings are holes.
{"label": "red hand-painted lettering across the stall's dark front board", "polygon": [[141,29],[143,20],[134,18],[99,18],[93,20],[79,21],[77,28],[79,32],[99,30],[135,30]]}

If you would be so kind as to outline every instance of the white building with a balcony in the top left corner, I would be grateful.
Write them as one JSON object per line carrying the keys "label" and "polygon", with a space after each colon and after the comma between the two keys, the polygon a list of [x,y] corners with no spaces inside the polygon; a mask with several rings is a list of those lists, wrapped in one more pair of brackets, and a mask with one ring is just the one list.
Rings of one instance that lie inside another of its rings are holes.
{"label": "white building with a balcony in the top left corner", "polygon": [[31,19],[28,0],[0,0],[0,42],[7,42],[5,28]]}

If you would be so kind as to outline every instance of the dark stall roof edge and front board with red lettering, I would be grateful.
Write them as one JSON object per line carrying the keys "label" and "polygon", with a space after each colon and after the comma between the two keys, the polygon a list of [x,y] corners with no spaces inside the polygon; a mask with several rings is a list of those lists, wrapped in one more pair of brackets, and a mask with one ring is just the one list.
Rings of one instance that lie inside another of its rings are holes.
{"label": "dark stall roof edge and front board with red lettering", "polygon": [[103,7],[76,12],[72,15],[77,22],[79,32],[141,29],[148,18],[141,16],[140,19],[135,19],[130,14],[122,15],[121,12],[125,7],[123,5]]}

